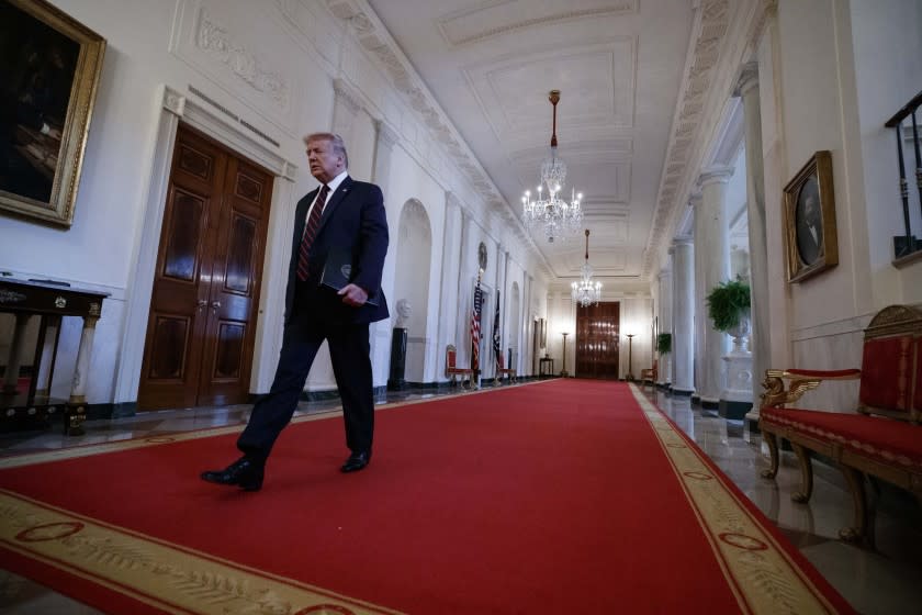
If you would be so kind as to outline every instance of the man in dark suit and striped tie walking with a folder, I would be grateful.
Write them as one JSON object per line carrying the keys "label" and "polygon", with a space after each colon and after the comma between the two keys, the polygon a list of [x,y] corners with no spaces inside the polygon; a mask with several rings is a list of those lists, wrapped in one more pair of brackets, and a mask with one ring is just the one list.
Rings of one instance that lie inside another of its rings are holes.
{"label": "man in dark suit and striped tie walking with a folder", "polygon": [[[340,470],[355,472],[371,460],[374,399],[369,356],[369,324],[389,316],[381,272],[387,254],[387,219],[381,189],[355,181],[342,138],[329,133],[305,137],[311,174],[322,186],[301,199],[285,292],[285,326],[279,367],[269,394],[252,409],[237,439],[244,456],[202,479],[262,487],[266,460],[291,421],[314,357],[324,339],[342,400],[346,446],[351,454]],[[340,255],[347,255],[346,260]],[[329,260],[329,261],[328,261]],[[335,268],[346,277],[341,289],[322,284]]]}

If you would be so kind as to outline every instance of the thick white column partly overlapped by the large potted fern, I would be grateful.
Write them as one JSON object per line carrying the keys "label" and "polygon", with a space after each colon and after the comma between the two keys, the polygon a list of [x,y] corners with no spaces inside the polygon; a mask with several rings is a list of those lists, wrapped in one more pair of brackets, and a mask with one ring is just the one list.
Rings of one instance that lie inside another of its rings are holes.
{"label": "thick white column partly overlapped by the large potted fern", "polygon": [[[729,225],[727,220],[727,182],[733,169],[715,167],[705,169],[698,178],[701,187],[701,202],[695,211],[695,277],[700,277],[698,288],[701,294],[695,306],[704,326],[702,339],[698,343],[700,362],[700,388],[697,393],[701,406],[717,409],[723,389],[723,355],[729,350],[727,334],[713,328],[707,316],[705,298],[730,277]],[[697,378],[696,378],[697,380]]]}

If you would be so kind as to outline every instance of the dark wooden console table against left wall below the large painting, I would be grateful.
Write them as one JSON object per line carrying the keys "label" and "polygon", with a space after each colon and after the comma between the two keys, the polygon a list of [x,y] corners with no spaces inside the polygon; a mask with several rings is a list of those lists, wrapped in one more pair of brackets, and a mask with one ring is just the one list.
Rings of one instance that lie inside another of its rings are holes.
{"label": "dark wooden console table against left wall below the large painting", "polygon": [[[102,313],[102,300],[109,293],[78,289],[40,280],[0,278],[0,312],[15,315],[16,324],[10,344],[7,371],[0,389],[0,422],[13,425],[31,417],[41,418],[64,412],[64,433],[80,435],[87,416],[87,381],[95,324]],[[19,392],[25,329],[32,317],[38,316],[38,342],[35,345],[33,373],[29,391]],[[60,320],[63,316],[83,318],[83,332],[77,350],[77,369],[67,400],[50,396]]]}

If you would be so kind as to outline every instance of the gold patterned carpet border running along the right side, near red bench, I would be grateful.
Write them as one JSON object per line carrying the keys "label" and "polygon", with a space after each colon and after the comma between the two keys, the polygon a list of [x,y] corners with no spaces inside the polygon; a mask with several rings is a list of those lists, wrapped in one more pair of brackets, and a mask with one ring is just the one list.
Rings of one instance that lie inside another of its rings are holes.
{"label": "gold patterned carpet border running along the right side, near red bench", "polygon": [[741,613],[836,613],[775,536],[666,416],[633,384]]}

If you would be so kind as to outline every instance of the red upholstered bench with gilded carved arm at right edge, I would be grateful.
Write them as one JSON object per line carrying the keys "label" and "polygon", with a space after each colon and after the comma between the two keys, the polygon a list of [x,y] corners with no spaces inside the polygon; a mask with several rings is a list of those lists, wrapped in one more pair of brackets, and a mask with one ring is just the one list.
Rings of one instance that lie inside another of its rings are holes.
{"label": "red upholstered bench with gilded carved arm at right edge", "polygon": [[[856,409],[791,407],[805,392],[835,380],[859,380]],[[802,480],[792,499],[803,503],[813,488],[811,451],[832,459],[855,504],[855,523],[840,532],[843,539],[874,544],[865,476],[906,489],[922,503],[922,311],[890,305],[878,312],[865,329],[861,369],[769,369],[763,387],[758,425],[772,467],[762,476],[776,476],[777,438],[788,440]]]}

